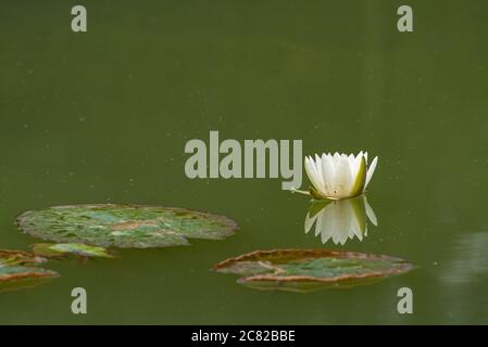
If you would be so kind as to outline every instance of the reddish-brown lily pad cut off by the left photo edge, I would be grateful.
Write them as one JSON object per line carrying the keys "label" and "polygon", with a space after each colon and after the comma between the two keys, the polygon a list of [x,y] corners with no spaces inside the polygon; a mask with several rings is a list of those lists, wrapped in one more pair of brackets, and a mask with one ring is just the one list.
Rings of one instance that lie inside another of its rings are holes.
{"label": "reddish-brown lily pad cut off by the left photo edge", "polygon": [[0,250],[0,292],[38,285],[58,277],[54,271],[35,267],[45,260],[22,250]]}

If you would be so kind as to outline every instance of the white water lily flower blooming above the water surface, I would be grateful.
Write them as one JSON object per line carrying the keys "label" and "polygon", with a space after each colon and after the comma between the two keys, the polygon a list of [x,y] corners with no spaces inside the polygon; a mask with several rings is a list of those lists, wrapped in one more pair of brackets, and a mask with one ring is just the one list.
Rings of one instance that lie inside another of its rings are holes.
{"label": "white water lily flower blooming above the water surface", "polygon": [[373,177],[378,163],[376,156],[367,166],[367,152],[356,156],[330,153],[305,156],[305,171],[313,188],[310,194],[315,198],[340,200],[361,195]]}

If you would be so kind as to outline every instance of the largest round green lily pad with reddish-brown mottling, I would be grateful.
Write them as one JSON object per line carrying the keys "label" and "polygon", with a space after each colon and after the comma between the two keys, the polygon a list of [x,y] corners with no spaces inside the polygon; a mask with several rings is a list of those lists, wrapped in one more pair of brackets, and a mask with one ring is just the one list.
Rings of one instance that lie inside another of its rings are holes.
{"label": "largest round green lily pad with reddish-brown mottling", "polygon": [[187,239],[221,240],[237,224],[224,216],[184,208],[140,205],[72,205],[17,217],[29,235],[59,243],[148,248],[188,245]]}

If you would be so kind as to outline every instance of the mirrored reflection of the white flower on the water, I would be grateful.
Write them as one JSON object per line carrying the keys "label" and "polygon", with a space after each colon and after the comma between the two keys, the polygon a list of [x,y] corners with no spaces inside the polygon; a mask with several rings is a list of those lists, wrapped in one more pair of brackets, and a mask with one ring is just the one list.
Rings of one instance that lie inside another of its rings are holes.
{"label": "mirrored reflection of the white flower on the water", "polygon": [[336,245],[343,245],[354,237],[363,241],[363,237],[367,236],[367,219],[373,224],[378,224],[365,195],[314,202],[305,218],[305,233],[309,233],[315,224],[315,236],[321,235],[323,244],[330,239]]}

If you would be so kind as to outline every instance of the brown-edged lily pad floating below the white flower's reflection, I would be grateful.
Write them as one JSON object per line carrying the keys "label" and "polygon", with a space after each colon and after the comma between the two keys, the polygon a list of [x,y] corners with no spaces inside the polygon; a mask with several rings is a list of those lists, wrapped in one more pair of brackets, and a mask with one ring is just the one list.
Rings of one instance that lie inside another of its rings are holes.
{"label": "brown-edged lily pad floating below the white flower's reflection", "polygon": [[384,255],[328,249],[273,249],[229,258],[213,269],[239,274],[239,283],[254,288],[309,292],[375,282],[412,268],[403,259]]}

